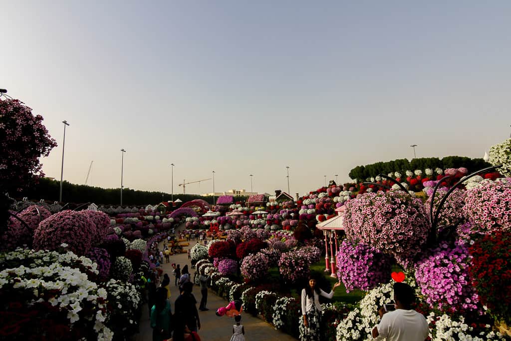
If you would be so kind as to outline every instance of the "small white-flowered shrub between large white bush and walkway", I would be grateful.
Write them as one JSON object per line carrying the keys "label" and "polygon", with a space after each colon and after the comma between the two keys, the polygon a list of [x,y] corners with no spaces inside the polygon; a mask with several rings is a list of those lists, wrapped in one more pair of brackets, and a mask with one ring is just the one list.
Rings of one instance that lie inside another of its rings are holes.
{"label": "small white-flowered shrub between large white bush and walkway", "polygon": [[[120,280],[110,280],[105,284],[108,292],[108,304],[111,307],[107,326],[115,335],[122,335],[123,329],[128,328],[134,332],[137,328],[138,307],[142,303],[142,295],[137,286]],[[128,333],[124,331],[124,333]]]}

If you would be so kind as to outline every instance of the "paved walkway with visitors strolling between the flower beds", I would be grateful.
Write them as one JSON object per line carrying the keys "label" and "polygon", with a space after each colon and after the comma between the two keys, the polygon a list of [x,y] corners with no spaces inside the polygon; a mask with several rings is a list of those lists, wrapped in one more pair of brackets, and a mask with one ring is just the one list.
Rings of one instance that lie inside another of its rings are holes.
{"label": "paved walkway with visitors strolling between the flower beds", "polygon": [[[181,229],[179,229],[181,230]],[[176,231],[177,233],[177,231]],[[190,246],[195,245],[195,241],[190,242]],[[160,249],[163,244],[160,244]],[[185,247],[188,249],[189,247]],[[172,276],[172,267],[170,264],[176,263],[181,265],[181,269],[185,264],[188,264],[188,268],[191,270],[193,278],[195,269],[191,269],[190,261],[188,260],[187,254],[178,254],[170,257],[170,263],[162,264],[164,274],[167,273],[171,278],[171,307],[174,311],[174,301],[179,295],[178,288],[174,286],[174,277]],[[197,302],[200,302],[201,294],[200,289],[197,285],[194,285],[193,294]],[[201,329],[199,330],[199,336],[203,341],[228,341],[230,336],[233,334],[233,325],[235,324],[234,319],[227,316],[217,316],[215,311],[221,307],[226,306],[228,302],[218,297],[213,291],[208,289],[207,293],[207,304],[206,307],[210,310],[199,311]],[[136,341],[148,341],[152,339],[152,329],[149,324],[149,312],[147,304],[144,305],[142,311],[142,319],[140,326],[140,334],[134,336]],[[241,324],[245,327],[245,338],[247,341],[296,341],[294,337],[280,330],[275,330],[273,326],[264,322],[263,320],[253,317],[250,314],[242,313]]]}

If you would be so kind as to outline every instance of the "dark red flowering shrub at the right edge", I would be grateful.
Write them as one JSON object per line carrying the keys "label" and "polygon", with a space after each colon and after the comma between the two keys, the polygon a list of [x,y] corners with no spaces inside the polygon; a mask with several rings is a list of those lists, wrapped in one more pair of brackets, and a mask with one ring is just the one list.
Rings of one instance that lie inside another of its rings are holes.
{"label": "dark red flowering shrub at the right edge", "polygon": [[486,235],[469,252],[473,257],[470,278],[481,303],[511,325],[511,232]]}

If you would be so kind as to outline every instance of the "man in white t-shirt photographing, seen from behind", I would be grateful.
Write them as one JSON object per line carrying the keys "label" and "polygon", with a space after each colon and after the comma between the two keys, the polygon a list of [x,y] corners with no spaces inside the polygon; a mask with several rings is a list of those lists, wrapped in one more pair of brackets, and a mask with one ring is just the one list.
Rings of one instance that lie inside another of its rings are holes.
{"label": "man in white t-shirt photographing, seen from behind", "polygon": [[381,321],[373,329],[373,338],[387,341],[423,341],[428,338],[429,326],[423,314],[411,309],[415,301],[413,289],[405,283],[394,283],[396,310],[380,308]]}

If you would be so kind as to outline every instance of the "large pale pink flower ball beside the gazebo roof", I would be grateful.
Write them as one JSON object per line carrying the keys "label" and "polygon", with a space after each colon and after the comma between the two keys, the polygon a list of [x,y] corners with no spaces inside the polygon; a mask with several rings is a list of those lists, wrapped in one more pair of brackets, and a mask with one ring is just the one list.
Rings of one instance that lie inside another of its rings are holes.
{"label": "large pale pink flower ball beside the gazebo roof", "polygon": [[394,256],[404,265],[421,251],[430,229],[424,204],[403,191],[365,193],[346,203],[346,237]]}

